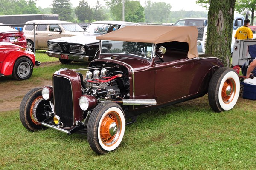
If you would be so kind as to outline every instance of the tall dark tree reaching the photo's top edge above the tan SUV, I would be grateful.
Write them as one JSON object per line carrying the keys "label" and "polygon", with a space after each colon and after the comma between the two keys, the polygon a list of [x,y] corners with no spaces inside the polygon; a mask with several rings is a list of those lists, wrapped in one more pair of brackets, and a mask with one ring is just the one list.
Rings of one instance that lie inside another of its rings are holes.
{"label": "tall dark tree reaching the photo's top edge above the tan SUV", "polygon": [[73,19],[70,0],[53,0],[51,9],[52,14],[59,15],[59,20],[71,21]]}

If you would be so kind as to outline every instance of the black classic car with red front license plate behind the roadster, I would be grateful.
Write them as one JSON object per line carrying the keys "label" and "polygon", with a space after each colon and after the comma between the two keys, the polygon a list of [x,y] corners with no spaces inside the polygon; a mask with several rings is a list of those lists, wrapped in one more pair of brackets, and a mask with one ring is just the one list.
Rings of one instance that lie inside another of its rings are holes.
{"label": "black classic car with red front license plate behind the roadster", "polygon": [[82,35],[62,37],[47,42],[49,57],[56,57],[63,64],[71,61],[92,61],[96,52],[99,51],[99,40],[95,37],[115,31],[129,25],[139,25],[124,21],[96,21],[90,24]]}

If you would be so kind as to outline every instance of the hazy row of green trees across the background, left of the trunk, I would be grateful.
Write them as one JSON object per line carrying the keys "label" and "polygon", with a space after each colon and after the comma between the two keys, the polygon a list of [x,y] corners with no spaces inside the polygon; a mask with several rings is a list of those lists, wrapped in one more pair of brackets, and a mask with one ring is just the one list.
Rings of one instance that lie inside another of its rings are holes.
{"label": "hazy row of green trees across the background, left of the trunk", "polygon": [[[52,7],[36,6],[36,0],[0,0],[0,15],[13,14],[59,14],[59,20],[71,22],[93,22],[98,20],[122,20],[122,0],[105,0],[94,6],[88,0],[80,0],[79,6],[72,7],[70,0],[52,0]],[[202,11],[172,11],[172,6],[165,2],[145,4],[139,1],[125,0],[125,21],[147,23],[175,23],[180,18],[207,17]]]}

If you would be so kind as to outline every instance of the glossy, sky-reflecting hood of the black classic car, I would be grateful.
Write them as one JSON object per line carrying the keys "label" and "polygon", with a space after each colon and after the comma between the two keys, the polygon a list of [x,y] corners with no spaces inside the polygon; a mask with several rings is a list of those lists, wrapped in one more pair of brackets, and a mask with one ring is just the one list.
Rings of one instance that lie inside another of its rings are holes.
{"label": "glossy, sky-reflecting hood of the black classic car", "polygon": [[90,35],[90,34],[81,34],[76,35],[72,37],[61,37],[49,40],[48,42],[61,42],[61,43],[70,43],[70,44],[80,44],[80,45],[87,45],[99,42],[99,40],[96,40],[96,35]]}

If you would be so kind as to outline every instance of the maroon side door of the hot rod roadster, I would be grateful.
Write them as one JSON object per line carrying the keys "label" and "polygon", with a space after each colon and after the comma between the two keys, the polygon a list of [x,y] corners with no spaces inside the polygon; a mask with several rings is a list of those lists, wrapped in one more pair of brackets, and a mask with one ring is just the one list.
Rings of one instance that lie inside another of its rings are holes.
{"label": "maroon side door of the hot rod roadster", "polygon": [[[198,92],[196,76],[200,70],[196,59],[180,59],[155,66],[155,98],[157,104],[182,99]],[[194,88],[195,87],[195,88]]]}

